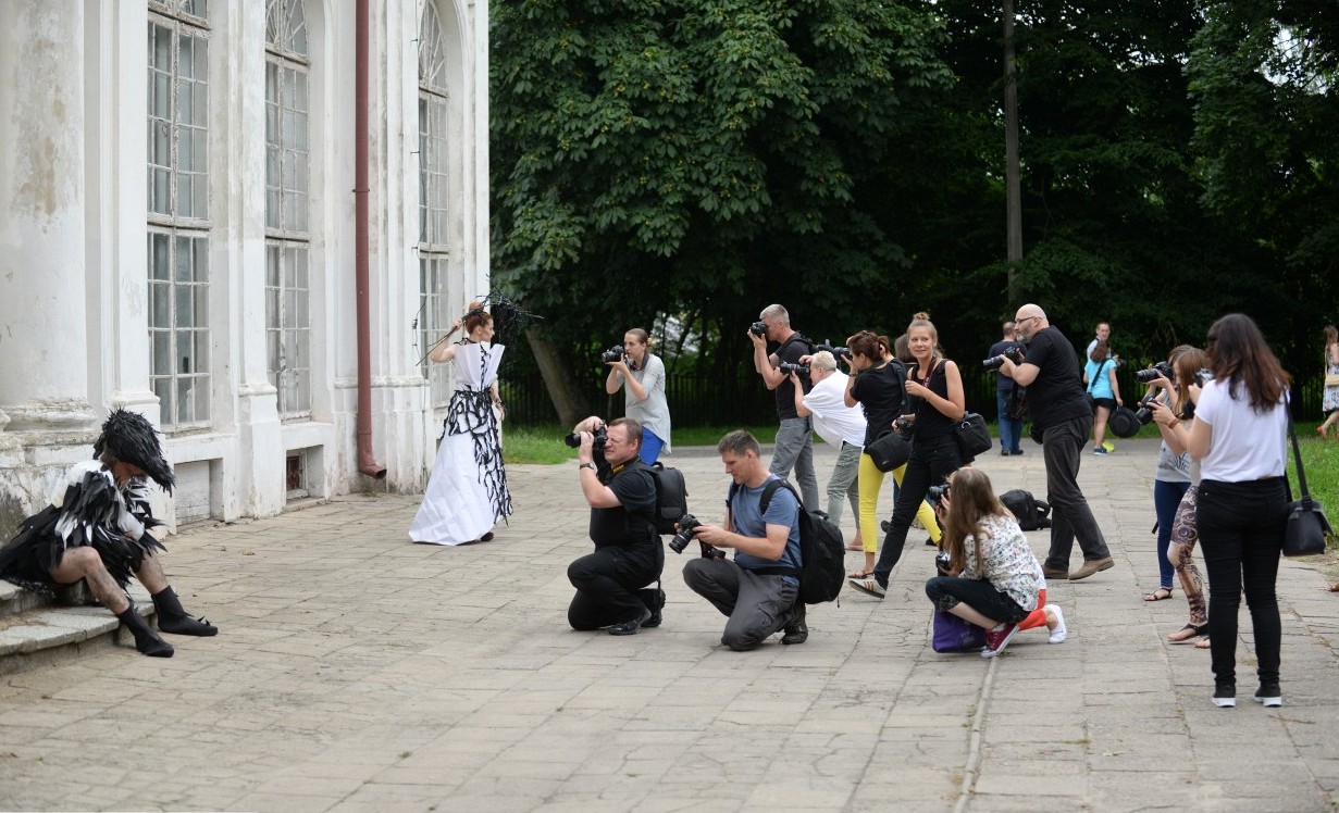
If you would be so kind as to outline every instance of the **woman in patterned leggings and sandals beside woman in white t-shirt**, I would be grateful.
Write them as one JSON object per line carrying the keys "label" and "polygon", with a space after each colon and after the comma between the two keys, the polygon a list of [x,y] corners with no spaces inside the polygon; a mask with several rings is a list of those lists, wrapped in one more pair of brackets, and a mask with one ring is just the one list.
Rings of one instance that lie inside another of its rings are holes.
{"label": "woman in patterned leggings and sandals beside woman in white t-shirt", "polygon": [[[1180,345],[1168,356],[1172,365],[1172,374],[1176,384],[1166,378],[1157,378],[1156,385],[1166,390],[1168,400],[1152,401],[1153,420],[1162,432],[1162,448],[1176,460],[1185,460],[1185,489],[1177,504],[1168,511],[1165,500],[1170,495],[1164,495],[1164,501],[1158,501],[1158,488],[1161,481],[1154,481],[1153,499],[1158,511],[1158,548],[1162,551],[1165,563],[1173,568],[1181,580],[1181,592],[1190,607],[1190,620],[1174,632],[1168,632],[1170,643],[1189,643],[1198,638],[1196,649],[1209,649],[1209,614],[1204,602],[1204,578],[1200,568],[1194,566],[1194,546],[1200,539],[1196,526],[1196,493],[1201,476],[1198,460],[1190,457],[1181,439],[1173,432],[1174,425],[1190,425],[1194,417],[1194,402],[1190,400],[1190,386],[1196,385],[1196,374],[1209,366],[1209,357],[1200,348]],[[1180,465],[1180,464],[1177,464]],[[1162,472],[1162,460],[1158,461],[1158,471]],[[1168,517],[1170,515],[1170,519]],[[1164,531],[1165,528],[1165,531]],[[1164,535],[1168,543],[1164,546]],[[1161,564],[1161,563],[1160,563]],[[1164,576],[1164,584],[1170,584]],[[1172,595],[1168,588],[1168,596]],[[1145,596],[1148,598],[1148,596]]]}

